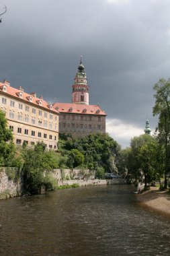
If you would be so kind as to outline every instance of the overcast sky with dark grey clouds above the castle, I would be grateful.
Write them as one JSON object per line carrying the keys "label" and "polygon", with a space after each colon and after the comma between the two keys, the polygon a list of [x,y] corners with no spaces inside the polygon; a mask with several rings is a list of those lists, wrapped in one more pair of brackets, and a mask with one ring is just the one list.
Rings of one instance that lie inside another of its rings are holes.
{"label": "overcast sky with dark grey clouds above the castle", "polygon": [[83,55],[89,104],[122,147],[151,129],[153,85],[170,76],[169,0],[0,0],[0,80],[71,102]]}

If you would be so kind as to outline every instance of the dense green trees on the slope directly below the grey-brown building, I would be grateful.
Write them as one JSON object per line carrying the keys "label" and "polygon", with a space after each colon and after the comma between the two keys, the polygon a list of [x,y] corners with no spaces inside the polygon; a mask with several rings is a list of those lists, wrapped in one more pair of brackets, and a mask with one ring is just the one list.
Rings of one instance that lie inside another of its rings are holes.
{"label": "dense green trees on the slope directly below the grey-brown building", "polygon": [[[59,150],[63,155],[68,156],[67,164],[69,167],[74,167],[74,162],[76,165],[83,164],[85,168],[91,170],[103,167],[105,172],[113,172],[113,161],[120,152],[120,146],[108,134],[91,133],[81,137],[81,139],[72,139],[70,137],[65,140],[60,139]],[[76,154],[73,154],[72,150],[78,150],[77,153],[80,152],[83,155],[83,158],[79,155],[79,158],[82,158],[81,162],[77,162]]]}

